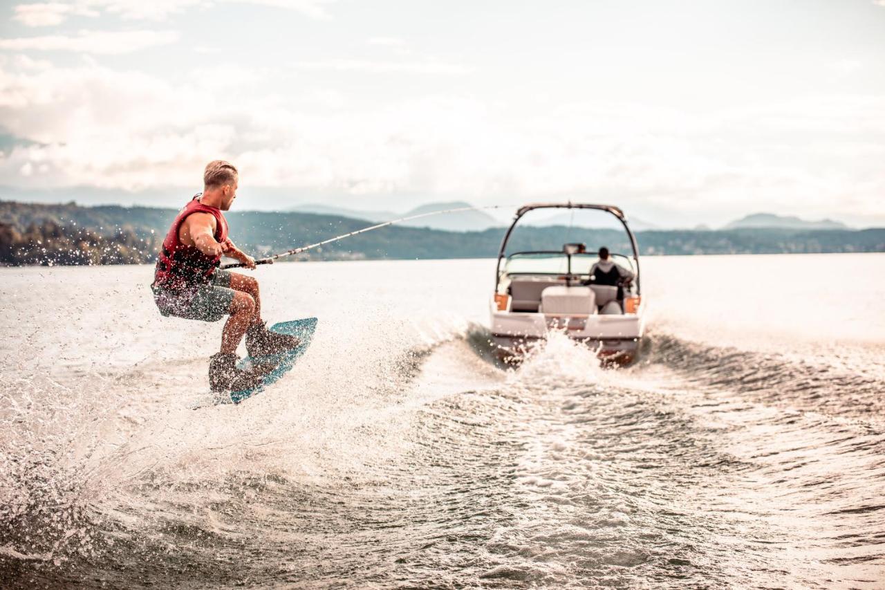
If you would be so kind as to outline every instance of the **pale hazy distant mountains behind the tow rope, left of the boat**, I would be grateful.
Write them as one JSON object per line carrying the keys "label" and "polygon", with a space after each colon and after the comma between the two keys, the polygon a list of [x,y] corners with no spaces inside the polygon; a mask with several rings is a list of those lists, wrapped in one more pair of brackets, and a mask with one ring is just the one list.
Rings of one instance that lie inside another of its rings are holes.
{"label": "pale hazy distant mountains behind the tow rope, left of the boat", "polygon": [[[344,207],[312,203],[308,205],[294,206],[290,208],[289,211],[337,215],[339,217],[349,217],[350,219],[381,222],[400,219],[402,217],[411,217],[412,215],[419,215],[422,213],[434,213],[435,211],[461,209],[470,206],[472,206],[470,203],[464,201],[453,201],[450,203],[431,203],[429,205],[422,205],[415,207],[406,213],[393,213],[390,211],[346,209]],[[482,231],[483,229],[494,228],[501,224],[496,221],[494,217],[489,215],[489,213],[473,210],[459,211],[458,213],[444,213],[441,215],[429,215],[413,221],[404,221],[399,225],[409,228],[443,229],[444,231]]]}

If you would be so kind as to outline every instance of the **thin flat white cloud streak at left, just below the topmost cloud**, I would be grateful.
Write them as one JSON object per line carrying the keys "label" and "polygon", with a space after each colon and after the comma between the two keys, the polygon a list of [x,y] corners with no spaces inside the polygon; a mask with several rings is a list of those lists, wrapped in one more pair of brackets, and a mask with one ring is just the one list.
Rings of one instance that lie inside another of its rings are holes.
{"label": "thin flat white cloud streak at left, just below the topmost cloud", "polygon": [[104,55],[131,53],[148,47],[175,43],[176,31],[80,31],[76,36],[44,35],[0,39],[0,49],[75,51]]}

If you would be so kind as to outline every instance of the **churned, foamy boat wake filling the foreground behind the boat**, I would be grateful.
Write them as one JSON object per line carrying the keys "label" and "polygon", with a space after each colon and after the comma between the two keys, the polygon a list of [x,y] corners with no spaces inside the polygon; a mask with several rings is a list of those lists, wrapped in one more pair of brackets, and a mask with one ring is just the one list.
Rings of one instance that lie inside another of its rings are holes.
{"label": "churned, foamy boat wake filling the foreground behind the boat", "polygon": [[558,334],[509,367],[463,318],[330,323],[286,378],[239,406],[189,409],[205,394],[196,357],[19,378],[22,395],[0,408],[0,579],[879,579],[873,372],[655,330],[627,369]]}

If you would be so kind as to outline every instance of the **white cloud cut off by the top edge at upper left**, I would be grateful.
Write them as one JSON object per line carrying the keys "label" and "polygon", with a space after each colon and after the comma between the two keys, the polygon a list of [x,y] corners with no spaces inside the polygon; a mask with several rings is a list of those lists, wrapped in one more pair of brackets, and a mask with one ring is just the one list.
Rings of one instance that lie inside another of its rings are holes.
{"label": "white cloud cut off by the top edge at upper left", "polygon": [[327,19],[327,5],[335,0],[72,0],[19,4],[14,19],[28,27],[59,25],[71,16],[98,17],[114,14],[122,19],[163,20],[194,7],[215,4],[258,4],[301,12],[312,19]]}

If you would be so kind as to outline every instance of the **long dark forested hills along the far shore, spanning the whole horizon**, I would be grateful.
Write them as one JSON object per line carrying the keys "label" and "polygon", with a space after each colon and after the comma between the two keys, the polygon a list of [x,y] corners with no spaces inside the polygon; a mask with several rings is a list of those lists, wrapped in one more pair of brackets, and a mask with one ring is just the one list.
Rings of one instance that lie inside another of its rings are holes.
{"label": "long dark forested hills along the far shore, spanning the whole horizon", "polygon": [[[442,204],[441,204],[442,205]],[[456,204],[457,205],[457,204]],[[121,264],[156,260],[175,209],[33,205],[0,201],[0,265]],[[292,212],[227,213],[231,237],[256,258],[346,234],[366,220]],[[635,232],[642,254],[885,252],[885,229],[741,228]],[[299,260],[493,258],[504,228],[481,231],[390,226],[304,252]],[[518,226],[508,252],[584,242],[630,252],[623,229]]]}

